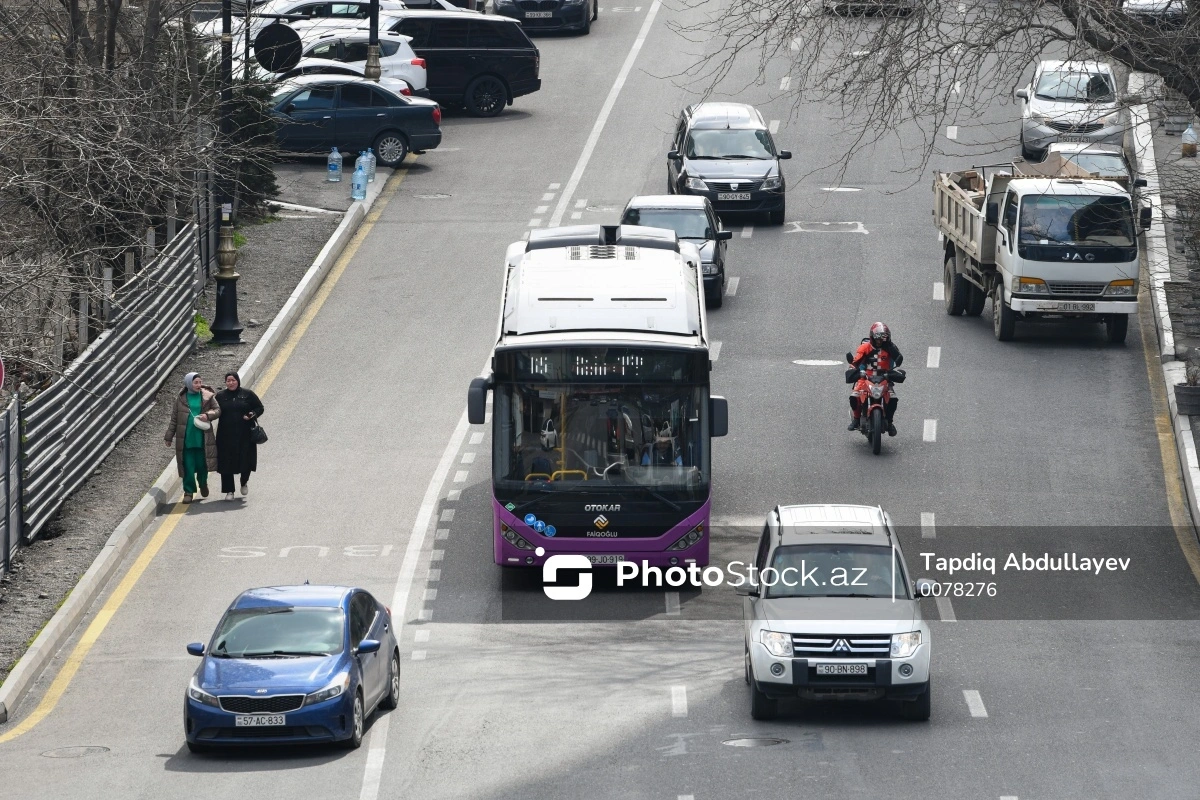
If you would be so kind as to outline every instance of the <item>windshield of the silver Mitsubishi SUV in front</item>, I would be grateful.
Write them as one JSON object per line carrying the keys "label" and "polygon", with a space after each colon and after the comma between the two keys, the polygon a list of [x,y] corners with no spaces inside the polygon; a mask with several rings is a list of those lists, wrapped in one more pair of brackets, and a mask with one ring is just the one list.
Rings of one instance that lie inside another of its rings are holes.
{"label": "windshield of the silver Mitsubishi SUV in front", "polygon": [[908,600],[894,551],[880,545],[786,545],[761,583],[766,597],[893,597]]}

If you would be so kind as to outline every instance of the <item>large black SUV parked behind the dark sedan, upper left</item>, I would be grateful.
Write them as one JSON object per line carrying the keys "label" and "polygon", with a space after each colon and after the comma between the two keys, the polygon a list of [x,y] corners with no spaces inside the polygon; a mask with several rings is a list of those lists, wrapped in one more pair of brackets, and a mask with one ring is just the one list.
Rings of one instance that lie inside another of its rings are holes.
{"label": "large black SUV parked behind the dark sedan, upper left", "polygon": [[389,30],[412,36],[425,59],[430,97],[496,116],[515,97],[541,89],[541,55],[520,23],[467,11],[392,12]]}

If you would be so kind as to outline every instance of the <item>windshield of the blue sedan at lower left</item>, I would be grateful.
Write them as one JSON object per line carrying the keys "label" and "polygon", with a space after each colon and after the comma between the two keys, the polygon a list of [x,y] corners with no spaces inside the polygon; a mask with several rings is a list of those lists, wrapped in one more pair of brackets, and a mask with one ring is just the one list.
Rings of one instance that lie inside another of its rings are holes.
{"label": "windshield of the blue sedan at lower left", "polygon": [[235,608],[212,638],[209,652],[230,658],[332,655],[342,650],[341,608]]}

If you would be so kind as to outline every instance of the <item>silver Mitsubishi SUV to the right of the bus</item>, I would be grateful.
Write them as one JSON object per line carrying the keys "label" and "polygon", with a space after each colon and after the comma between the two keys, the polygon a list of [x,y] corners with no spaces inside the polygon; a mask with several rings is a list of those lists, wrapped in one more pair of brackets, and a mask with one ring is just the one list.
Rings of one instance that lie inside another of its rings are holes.
{"label": "silver Mitsubishi SUV to the right of the bus", "polygon": [[930,631],[892,521],[878,507],[778,506],[745,596],[750,716],[778,700],[888,699],[930,716]]}

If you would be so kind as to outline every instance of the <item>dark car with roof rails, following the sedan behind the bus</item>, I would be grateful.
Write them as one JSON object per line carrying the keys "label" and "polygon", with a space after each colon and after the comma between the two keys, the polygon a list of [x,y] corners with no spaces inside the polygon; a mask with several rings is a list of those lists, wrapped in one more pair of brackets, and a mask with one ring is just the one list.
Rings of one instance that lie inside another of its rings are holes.
{"label": "dark car with roof rails, following the sedan behind the bus", "polygon": [[781,161],[775,142],[754,106],[697,103],[679,116],[667,154],[667,192],[707,197],[718,213],[766,213],[784,224]]}

